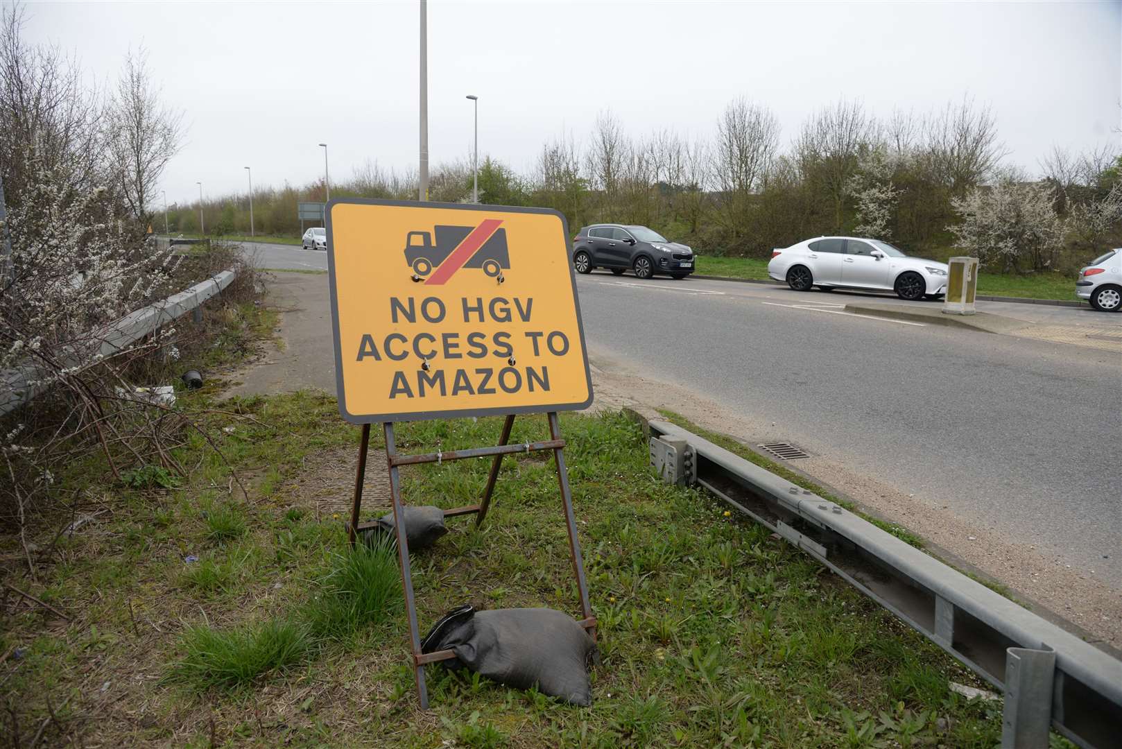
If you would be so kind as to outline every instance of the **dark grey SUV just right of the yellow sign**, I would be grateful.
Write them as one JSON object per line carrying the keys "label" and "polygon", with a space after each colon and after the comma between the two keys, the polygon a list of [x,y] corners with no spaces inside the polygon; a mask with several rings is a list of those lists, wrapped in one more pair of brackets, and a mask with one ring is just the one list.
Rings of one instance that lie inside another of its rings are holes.
{"label": "dark grey SUV just right of the yellow sign", "polygon": [[655,273],[684,278],[693,273],[693,250],[670,241],[645,226],[594,223],[572,238],[572,265],[577,273],[608,268],[622,275],[628,268],[638,278]]}

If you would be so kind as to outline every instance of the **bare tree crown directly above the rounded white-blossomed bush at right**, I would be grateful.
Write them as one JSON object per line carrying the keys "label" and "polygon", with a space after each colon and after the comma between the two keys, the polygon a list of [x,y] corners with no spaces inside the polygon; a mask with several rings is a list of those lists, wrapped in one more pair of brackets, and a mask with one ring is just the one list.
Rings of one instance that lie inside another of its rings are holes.
{"label": "bare tree crown directly above the rounded white-blossomed bush at right", "polygon": [[1008,153],[997,139],[997,124],[990,107],[975,106],[968,97],[928,118],[925,130],[936,179],[955,194],[991,175]]}

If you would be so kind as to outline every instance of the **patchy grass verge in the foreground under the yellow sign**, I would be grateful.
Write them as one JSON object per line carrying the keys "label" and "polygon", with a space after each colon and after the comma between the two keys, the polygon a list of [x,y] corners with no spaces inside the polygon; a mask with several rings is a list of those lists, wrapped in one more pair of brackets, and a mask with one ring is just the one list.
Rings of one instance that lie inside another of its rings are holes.
{"label": "patchy grass verge in the foreground under the yellow sign", "polygon": [[[86,465],[65,477],[99,487],[104,512],[61,539],[59,563],[25,590],[70,619],[21,600],[9,604],[0,636],[0,651],[20,649],[0,674],[2,694],[20,727],[46,725],[47,743],[1000,740],[1000,703],[967,702],[948,688],[949,681],[984,686],[967,669],[766,529],[727,515],[703,493],[661,483],[640,430],[620,413],[562,418],[600,622],[592,706],[434,666],[433,710],[421,712],[396,563],[346,546],[356,429],[332,399],[311,393],[236,399],[211,419],[223,457],[195,438],[176,448],[177,459],[197,466],[188,485],[109,485],[103,467]],[[451,450],[493,444],[499,427],[497,419],[414,422],[398,439],[407,451]],[[512,440],[546,433],[544,419],[524,417]],[[406,468],[405,497],[476,502],[488,467]],[[231,468],[245,496],[230,485]],[[383,475],[368,473],[367,517],[385,512]],[[213,536],[208,508],[223,503],[239,508],[242,532]],[[435,547],[413,556],[422,630],[465,602],[578,613],[552,462],[508,457],[486,527],[449,524]],[[6,544],[10,551],[13,541]],[[193,572],[205,560],[212,569]]]}

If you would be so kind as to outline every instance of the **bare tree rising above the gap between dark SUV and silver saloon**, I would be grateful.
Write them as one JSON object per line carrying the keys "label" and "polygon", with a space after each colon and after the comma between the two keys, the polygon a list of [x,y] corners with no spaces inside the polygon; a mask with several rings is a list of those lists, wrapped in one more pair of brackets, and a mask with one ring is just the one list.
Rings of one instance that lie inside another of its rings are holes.
{"label": "bare tree rising above the gap between dark SUV and silver saloon", "polygon": [[762,184],[779,150],[779,120],[771,110],[743,97],[717,120],[710,152],[711,180],[720,192],[723,223],[734,238],[744,231],[751,198]]}

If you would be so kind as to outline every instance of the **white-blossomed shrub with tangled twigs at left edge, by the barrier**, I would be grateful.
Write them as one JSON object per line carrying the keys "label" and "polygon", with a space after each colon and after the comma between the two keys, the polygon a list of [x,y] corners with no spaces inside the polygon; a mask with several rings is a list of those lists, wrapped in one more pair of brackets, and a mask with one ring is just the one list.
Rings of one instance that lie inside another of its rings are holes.
{"label": "white-blossomed shrub with tangled twigs at left edge, by the barrier", "polygon": [[100,444],[111,466],[110,444],[135,451],[137,430],[126,422],[136,402],[117,392],[127,363],[156,344],[105,356],[102,335],[165,295],[175,268],[136,221],[120,218],[111,191],[75,189],[61,170],[31,165],[30,173],[2,227],[11,252],[0,265],[0,403],[38,394],[36,408],[20,405],[0,422],[0,511],[20,535],[61,467],[86,445]]}

